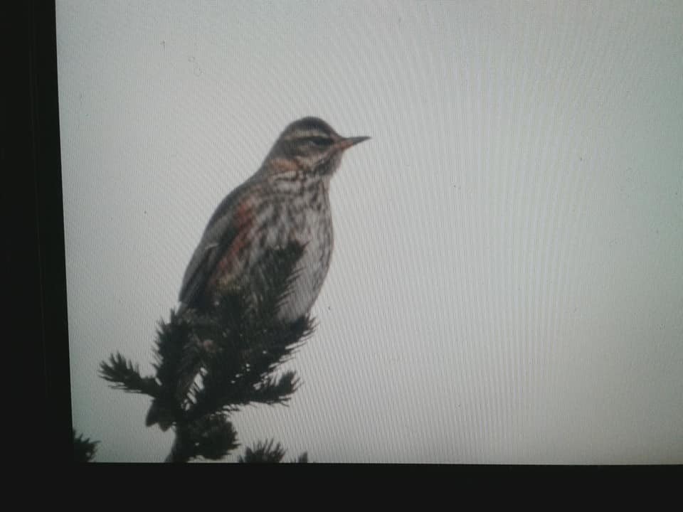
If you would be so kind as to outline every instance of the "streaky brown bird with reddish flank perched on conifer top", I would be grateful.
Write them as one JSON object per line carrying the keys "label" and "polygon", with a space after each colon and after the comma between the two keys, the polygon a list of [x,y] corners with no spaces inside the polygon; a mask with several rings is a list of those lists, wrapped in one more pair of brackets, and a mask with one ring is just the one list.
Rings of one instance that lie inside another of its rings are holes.
{"label": "streaky brown bird with reddish flank perched on conifer top", "polygon": [[[292,243],[302,255],[277,318],[290,323],[308,314],[334,248],[330,181],[344,152],[368,139],[342,137],[319,117],[288,124],[255,174],[228,193],[208,220],[184,273],[179,314],[211,311],[226,287],[263,292],[265,255]],[[153,402],[147,425],[159,422],[165,430],[169,423],[161,415]]]}

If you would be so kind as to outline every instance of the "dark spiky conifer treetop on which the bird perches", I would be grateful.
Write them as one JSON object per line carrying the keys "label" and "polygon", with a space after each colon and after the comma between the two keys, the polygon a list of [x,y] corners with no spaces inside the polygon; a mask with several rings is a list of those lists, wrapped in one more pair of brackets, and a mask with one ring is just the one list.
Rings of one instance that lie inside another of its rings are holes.
{"label": "dark spiky conifer treetop on which the bird perches", "polygon": [[[210,311],[171,310],[169,321],[157,329],[155,377],[140,375],[139,366],[120,353],[101,363],[102,378],[113,388],[154,399],[148,426],[174,427],[167,462],[225,457],[238,446],[228,415],[250,403],[286,404],[297,389],[294,372],[273,373],[314,330],[309,316],[290,324],[278,319],[302,253],[302,246],[290,245],[268,254],[256,277],[263,293],[228,287]],[[280,444],[271,440],[240,460],[279,462],[282,455]]]}

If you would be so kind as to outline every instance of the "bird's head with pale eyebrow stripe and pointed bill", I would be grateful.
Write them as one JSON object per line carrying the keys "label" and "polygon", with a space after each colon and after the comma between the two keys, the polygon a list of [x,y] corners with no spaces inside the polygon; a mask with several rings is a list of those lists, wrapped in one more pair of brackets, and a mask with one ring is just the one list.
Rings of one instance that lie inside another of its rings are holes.
{"label": "bird's head with pale eyebrow stripe and pointed bill", "polygon": [[330,176],[351,146],[370,137],[342,137],[317,117],[292,122],[272,146],[266,161],[288,161],[305,172]]}

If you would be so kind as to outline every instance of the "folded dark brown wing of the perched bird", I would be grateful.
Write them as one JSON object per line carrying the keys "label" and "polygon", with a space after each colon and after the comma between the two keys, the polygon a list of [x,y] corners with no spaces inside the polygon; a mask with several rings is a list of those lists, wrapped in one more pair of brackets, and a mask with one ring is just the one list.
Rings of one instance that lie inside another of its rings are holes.
{"label": "folded dark brown wing of the perched bird", "polygon": [[183,277],[179,300],[186,306],[195,306],[201,299],[216,265],[230,252],[231,246],[242,238],[240,233],[248,227],[243,220],[247,193],[248,183],[235,188],[211,215]]}

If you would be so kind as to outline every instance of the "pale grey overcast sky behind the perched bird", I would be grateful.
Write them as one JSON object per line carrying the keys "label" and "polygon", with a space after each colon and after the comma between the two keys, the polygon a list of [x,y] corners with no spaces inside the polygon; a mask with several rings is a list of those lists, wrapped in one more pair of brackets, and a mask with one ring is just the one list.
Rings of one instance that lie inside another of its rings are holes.
{"label": "pale grey overcast sky behind the perched bird", "polygon": [[[152,373],[203,228],[306,115],[369,135],[289,407],[317,462],[683,462],[683,4],[57,3],[73,421],[161,461]],[[235,457],[238,452],[235,452]],[[234,460],[231,457],[230,460]]]}

